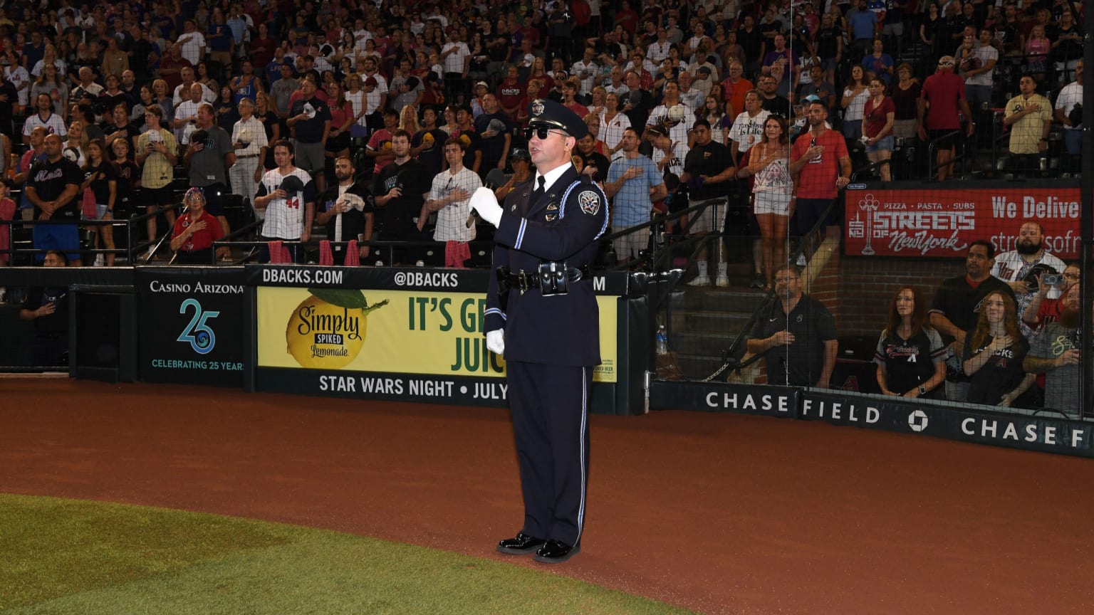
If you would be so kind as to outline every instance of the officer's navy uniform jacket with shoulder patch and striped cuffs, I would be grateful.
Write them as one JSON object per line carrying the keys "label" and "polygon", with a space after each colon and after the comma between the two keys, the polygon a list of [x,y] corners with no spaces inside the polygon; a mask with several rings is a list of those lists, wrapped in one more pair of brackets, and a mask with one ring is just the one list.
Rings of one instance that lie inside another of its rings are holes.
{"label": "officer's navy uniform jacket with shoulder patch and striped cuffs", "polygon": [[[502,205],[494,233],[493,270],[538,272],[545,262],[592,266],[596,239],[608,220],[607,197],[572,166],[531,204],[533,181],[520,184]],[[556,365],[601,363],[600,313],[591,279],[569,283],[567,294],[544,297],[538,285],[509,290],[502,310],[496,275],[490,276],[486,330],[503,328],[505,359]]]}

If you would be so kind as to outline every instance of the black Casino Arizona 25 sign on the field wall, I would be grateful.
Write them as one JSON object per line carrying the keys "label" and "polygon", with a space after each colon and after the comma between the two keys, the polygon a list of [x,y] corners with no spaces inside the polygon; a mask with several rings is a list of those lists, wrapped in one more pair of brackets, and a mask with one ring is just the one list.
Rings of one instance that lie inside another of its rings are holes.
{"label": "black Casino Arizona 25 sign on the field wall", "polygon": [[138,378],[243,386],[248,368],[242,269],[139,267]]}

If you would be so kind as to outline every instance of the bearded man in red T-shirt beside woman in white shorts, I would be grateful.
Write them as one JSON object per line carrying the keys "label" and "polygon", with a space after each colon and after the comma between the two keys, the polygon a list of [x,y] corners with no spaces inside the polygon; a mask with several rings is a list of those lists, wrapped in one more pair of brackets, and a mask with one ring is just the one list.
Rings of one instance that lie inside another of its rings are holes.
{"label": "bearded man in red T-shirt beside woman in white shorts", "polygon": [[[790,154],[790,174],[798,185],[798,232],[803,237],[816,223],[821,223],[823,233],[835,221],[833,202],[851,178],[847,142],[826,126],[828,107],[814,101],[810,103],[807,117],[810,130],[794,141]],[[805,248],[806,254],[812,254],[816,245]]]}

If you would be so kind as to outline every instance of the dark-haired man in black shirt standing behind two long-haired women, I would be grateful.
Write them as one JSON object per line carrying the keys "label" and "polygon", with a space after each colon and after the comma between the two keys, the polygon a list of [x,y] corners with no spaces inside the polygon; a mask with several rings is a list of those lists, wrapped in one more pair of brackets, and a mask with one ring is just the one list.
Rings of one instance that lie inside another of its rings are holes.
{"label": "dark-haired man in black shirt standing behind two long-haired women", "polygon": [[964,401],[967,397],[969,379],[961,367],[961,351],[965,347],[965,334],[976,326],[984,298],[994,291],[1014,297],[1006,282],[991,277],[996,259],[996,246],[985,240],[976,240],[968,246],[965,256],[965,275],[942,282],[931,303],[931,326],[942,335],[942,343],[950,347],[946,361],[946,399]]}

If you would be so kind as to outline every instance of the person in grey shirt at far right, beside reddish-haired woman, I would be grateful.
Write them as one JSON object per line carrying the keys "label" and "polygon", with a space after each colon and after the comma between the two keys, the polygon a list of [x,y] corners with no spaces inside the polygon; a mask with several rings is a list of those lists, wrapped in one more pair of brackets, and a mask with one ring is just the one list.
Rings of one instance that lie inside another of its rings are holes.
{"label": "person in grey shirt at far right, beside reddish-haired woman", "polygon": [[1025,371],[1045,374],[1045,407],[1063,414],[1079,411],[1080,292],[1079,285],[1067,290],[1060,318],[1045,326],[1022,361]]}

